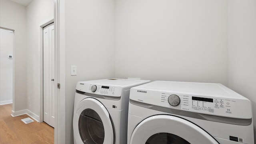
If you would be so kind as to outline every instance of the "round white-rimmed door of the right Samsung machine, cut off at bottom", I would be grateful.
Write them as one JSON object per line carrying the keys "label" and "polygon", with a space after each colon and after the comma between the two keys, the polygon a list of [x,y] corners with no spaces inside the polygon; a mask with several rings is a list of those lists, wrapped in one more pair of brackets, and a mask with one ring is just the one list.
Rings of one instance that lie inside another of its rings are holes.
{"label": "round white-rimmed door of the right Samsung machine, cut off at bottom", "polygon": [[146,118],[134,129],[130,144],[219,144],[195,124],[170,115]]}

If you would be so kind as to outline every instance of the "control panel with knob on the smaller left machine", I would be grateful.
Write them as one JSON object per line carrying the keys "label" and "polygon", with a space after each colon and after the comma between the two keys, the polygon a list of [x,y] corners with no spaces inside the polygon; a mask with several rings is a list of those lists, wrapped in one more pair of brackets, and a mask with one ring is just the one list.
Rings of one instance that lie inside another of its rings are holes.
{"label": "control panel with knob on the smaller left machine", "polygon": [[80,83],[76,85],[76,90],[91,94],[99,94],[104,96],[120,97],[122,88],[119,86],[103,86],[100,84]]}

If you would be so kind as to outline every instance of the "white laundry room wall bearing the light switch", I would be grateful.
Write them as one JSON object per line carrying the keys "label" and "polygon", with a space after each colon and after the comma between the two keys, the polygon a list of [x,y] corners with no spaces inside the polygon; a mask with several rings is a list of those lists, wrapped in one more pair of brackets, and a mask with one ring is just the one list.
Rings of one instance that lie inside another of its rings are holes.
{"label": "white laundry room wall bearing the light switch", "polygon": [[[114,0],[66,0],[65,6],[66,144],[72,144],[76,83],[114,77]],[[77,76],[70,76],[71,65]]]}

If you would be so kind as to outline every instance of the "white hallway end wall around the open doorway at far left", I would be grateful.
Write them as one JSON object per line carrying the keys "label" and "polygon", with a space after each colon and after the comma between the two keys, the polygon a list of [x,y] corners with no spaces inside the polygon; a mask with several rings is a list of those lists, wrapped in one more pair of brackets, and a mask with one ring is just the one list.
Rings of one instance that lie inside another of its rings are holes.
{"label": "white hallway end wall around the open doorway at far left", "polygon": [[0,0],[0,27],[14,30],[14,112],[26,109],[27,48],[26,7],[10,0]]}

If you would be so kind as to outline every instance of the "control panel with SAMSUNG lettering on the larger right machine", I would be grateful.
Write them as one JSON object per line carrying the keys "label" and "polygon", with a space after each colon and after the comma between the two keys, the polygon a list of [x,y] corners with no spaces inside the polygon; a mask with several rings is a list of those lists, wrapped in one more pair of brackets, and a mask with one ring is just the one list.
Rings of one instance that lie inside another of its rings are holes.
{"label": "control panel with SAMSUNG lettering on the larger right machine", "polygon": [[[144,93],[140,91],[144,91]],[[246,99],[134,89],[130,91],[130,99],[155,106],[202,114],[242,119],[252,118],[251,112],[248,112],[248,109],[251,109],[251,102]]]}

